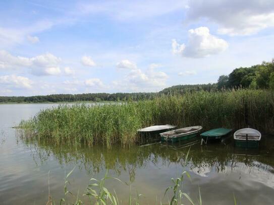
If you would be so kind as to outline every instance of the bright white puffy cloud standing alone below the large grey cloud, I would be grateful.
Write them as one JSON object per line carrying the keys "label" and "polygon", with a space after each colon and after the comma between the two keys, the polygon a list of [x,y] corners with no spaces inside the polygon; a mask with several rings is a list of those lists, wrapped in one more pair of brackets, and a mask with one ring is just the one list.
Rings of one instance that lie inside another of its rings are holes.
{"label": "bright white puffy cloud standing alone below the large grey cloud", "polygon": [[190,29],[188,33],[189,39],[186,45],[180,45],[175,39],[173,40],[173,53],[180,53],[184,57],[199,58],[221,53],[228,48],[228,43],[211,35],[207,27]]}

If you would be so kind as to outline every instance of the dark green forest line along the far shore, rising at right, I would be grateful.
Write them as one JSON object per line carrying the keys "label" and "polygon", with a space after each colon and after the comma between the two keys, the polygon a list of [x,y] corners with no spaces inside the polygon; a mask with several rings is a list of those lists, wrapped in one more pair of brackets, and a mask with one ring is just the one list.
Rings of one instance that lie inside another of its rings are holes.
{"label": "dark green forest line along the far shore, rising at right", "polygon": [[158,93],[86,93],[86,94],[54,94],[30,97],[0,96],[0,103],[39,103],[39,102],[77,102],[77,101],[122,101],[147,100],[159,95],[177,95],[193,91],[217,91],[225,89],[274,89],[274,58],[270,62],[251,67],[239,67],[228,76],[222,75],[217,83],[198,85],[177,85],[165,88]]}

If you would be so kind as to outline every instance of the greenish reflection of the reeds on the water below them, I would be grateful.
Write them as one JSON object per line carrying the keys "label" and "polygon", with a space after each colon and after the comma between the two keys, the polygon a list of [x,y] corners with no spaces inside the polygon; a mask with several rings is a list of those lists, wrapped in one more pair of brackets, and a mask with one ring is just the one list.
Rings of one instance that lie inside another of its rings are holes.
{"label": "greenish reflection of the reeds on the water below them", "polygon": [[[188,150],[190,150],[190,158],[188,159],[189,164],[191,164],[190,170],[191,167],[196,166],[214,166],[218,167],[218,171],[222,171],[222,167],[228,165],[233,169],[236,163],[244,163],[252,167],[254,161],[274,167],[274,140],[271,137],[265,139],[269,139],[269,142],[264,141],[262,148],[255,150],[234,147],[231,136],[224,139],[226,143],[214,143],[204,146],[200,146],[200,137],[197,136],[177,143],[156,143],[148,146],[124,148],[121,148],[121,146],[106,148],[99,145],[92,147],[87,145],[56,145],[30,139],[22,141],[31,150],[31,155],[37,164],[42,165],[54,158],[60,164],[77,164],[80,169],[85,169],[89,173],[112,169],[119,174],[121,170],[127,169],[128,166],[131,169],[142,169],[149,163],[165,166],[164,164],[174,159],[174,156],[177,156],[183,162]],[[183,163],[180,164],[183,165]]]}

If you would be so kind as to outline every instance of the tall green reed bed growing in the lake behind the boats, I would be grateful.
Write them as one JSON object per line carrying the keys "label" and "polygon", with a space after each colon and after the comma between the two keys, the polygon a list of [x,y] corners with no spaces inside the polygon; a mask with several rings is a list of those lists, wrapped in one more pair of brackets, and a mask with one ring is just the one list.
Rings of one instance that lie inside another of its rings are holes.
{"label": "tall green reed bed growing in the lake behind the boats", "polygon": [[273,91],[201,91],[121,104],[59,105],[21,121],[19,127],[26,137],[50,139],[57,144],[111,146],[137,143],[137,129],[156,124],[202,125],[204,129],[250,126],[273,133],[273,116]]}

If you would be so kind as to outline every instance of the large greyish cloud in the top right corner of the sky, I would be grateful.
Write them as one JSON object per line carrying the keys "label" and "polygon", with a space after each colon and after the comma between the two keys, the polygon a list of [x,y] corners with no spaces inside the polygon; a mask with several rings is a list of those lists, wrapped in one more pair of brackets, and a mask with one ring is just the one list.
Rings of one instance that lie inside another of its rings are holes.
{"label": "large greyish cloud in the top right corner of the sky", "polygon": [[188,20],[208,19],[221,34],[251,35],[274,26],[272,0],[196,0],[189,7]]}

